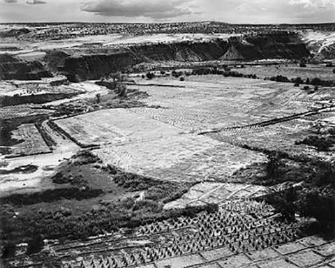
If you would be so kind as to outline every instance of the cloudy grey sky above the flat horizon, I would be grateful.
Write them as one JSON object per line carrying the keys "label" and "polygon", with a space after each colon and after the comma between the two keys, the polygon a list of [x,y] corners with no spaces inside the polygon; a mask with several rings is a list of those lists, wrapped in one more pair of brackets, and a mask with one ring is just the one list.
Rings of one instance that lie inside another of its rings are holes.
{"label": "cloudy grey sky above the flat horizon", "polygon": [[335,0],[0,0],[0,22],[335,22]]}

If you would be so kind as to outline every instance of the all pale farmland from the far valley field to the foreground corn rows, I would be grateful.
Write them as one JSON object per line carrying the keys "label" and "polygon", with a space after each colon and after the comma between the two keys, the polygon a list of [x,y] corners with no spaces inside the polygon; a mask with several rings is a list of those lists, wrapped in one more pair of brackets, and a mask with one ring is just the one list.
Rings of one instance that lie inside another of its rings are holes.
{"label": "all pale farmland from the far valley field to the foreground corn rows", "polygon": [[334,161],[332,150],[296,143],[316,122],[334,126],[333,90],[307,94],[288,83],[218,75],[135,82],[128,87],[149,94],[147,107],[54,119],[52,129],[91,149],[103,165],[194,184],[165,210],[203,204],[218,209],[49,244],[49,255],[10,265],[48,267],[57,260],[65,268],[335,267],[335,241],[313,236],[307,228],[313,219],[295,215],[288,221],[264,201],[287,184],[234,183],[244,168],[266,165],[267,151],[292,161]]}

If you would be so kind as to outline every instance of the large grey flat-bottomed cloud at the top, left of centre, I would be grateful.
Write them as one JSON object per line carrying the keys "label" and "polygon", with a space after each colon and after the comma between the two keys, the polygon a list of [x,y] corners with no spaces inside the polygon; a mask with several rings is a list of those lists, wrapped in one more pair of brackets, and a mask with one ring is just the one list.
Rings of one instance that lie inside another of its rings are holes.
{"label": "large grey flat-bottomed cloud at the top, left of centre", "polygon": [[181,7],[183,3],[188,1],[100,0],[84,3],[81,10],[112,17],[151,17],[153,19],[164,19],[191,14],[190,9]]}

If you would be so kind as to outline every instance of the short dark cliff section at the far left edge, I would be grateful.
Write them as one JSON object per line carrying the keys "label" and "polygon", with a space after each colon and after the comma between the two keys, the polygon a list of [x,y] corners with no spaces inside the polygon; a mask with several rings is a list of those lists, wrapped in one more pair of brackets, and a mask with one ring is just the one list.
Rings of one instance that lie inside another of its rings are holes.
{"label": "short dark cliff section at the far left edge", "polygon": [[40,61],[20,61],[8,54],[0,54],[0,80],[40,80],[52,77]]}

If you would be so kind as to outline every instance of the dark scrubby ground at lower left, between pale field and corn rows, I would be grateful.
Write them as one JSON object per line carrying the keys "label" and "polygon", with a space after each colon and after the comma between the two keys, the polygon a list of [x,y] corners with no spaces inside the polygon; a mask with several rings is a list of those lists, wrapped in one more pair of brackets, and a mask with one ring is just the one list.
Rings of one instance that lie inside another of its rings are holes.
{"label": "dark scrubby ground at lower left, between pale field and corn rows", "polygon": [[90,151],[82,151],[52,177],[64,188],[3,198],[1,239],[15,243],[30,241],[36,235],[43,239],[86,239],[211,209],[164,211],[166,202],[180,198],[193,184],[157,181],[114,167],[103,168],[99,162]]}

